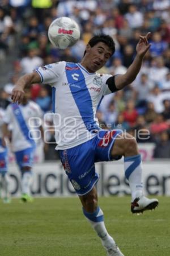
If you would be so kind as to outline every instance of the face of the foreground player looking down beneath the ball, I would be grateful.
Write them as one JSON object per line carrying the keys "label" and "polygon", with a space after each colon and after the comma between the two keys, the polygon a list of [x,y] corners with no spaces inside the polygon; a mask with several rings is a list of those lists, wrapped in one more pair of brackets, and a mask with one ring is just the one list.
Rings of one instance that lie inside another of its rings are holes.
{"label": "face of the foreground player looking down beneath the ball", "polygon": [[112,56],[112,51],[107,44],[97,43],[94,47],[89,45],[86,48],[87,63],[86,68],[89,72],[96,72],[102,68],[108,59]]}

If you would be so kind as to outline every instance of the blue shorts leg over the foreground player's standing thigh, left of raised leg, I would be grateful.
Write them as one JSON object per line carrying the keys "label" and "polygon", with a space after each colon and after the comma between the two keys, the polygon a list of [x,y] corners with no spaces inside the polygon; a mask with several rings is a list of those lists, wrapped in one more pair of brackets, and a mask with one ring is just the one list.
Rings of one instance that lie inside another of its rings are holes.
{"label": "blue shorts leg over the foreground player's standing thigh, left of raised leg", "polygon": [[95,171],[93,141],[67,150],[59,150],[59,156],[71,184],[79,196],[86,195],[99,180]]}

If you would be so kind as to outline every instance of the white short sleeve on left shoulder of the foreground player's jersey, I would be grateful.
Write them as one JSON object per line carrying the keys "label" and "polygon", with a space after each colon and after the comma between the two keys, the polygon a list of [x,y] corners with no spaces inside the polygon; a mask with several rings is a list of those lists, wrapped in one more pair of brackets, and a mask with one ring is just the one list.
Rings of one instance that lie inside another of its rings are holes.
{"label": "white short sleeve on left shoulder of the foreground player's jersey", "polygon": [[59,77],[65,71],[65,61],[59,61],[57,63],[48,64],[35,69],[41,77],[43,84],[53,84],[59,80]]}

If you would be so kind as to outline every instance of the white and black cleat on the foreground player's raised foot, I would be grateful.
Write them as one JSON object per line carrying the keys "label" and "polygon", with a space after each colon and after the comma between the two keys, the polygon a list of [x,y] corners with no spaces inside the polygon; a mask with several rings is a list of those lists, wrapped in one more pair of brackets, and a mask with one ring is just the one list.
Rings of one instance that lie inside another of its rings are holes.
{"label": "white and black cleat on the foreground player's raised foot", "polygon": [[131,203],[132,213],[143,213],[145,210],[153,210],[158,207],[158,199],[148,199],[143,195],[137,196]]}

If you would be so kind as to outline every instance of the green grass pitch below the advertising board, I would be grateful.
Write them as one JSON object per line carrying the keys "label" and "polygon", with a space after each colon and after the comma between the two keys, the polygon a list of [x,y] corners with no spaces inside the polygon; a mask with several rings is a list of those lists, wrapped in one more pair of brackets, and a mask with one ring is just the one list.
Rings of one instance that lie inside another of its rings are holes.
{"label": "green grass pitch below the advertising board", "polygon": [[[170,255],[169,197],[141,216],[130,212],[130,197],[100,197],[105,225],[125,256]],[[42,198],[33,203],[0,203],[1,256],[105,256],[78,198]]]}

